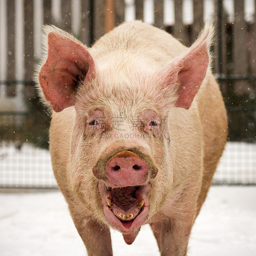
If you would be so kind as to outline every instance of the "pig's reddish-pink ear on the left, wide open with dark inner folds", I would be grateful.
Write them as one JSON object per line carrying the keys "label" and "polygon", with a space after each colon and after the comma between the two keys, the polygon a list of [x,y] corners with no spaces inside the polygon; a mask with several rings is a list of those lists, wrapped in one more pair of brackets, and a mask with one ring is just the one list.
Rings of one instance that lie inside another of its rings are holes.
{"label": "pig's reddish-pink ear on the left, wide open with dark inner folds", "polygon": [[94,74],[94,61],[84,46],[57,32],[49,33],[48,56],[38,79],[55,112],[74,106],[78,82]]}

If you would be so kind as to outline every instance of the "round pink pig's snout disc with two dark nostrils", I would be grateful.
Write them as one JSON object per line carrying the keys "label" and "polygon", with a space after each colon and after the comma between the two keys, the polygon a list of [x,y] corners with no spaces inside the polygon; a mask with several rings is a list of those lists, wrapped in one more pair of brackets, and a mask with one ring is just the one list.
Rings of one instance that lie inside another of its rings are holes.
{"label": "round pink pig's snout disc with two dark nostrils", "polygon": [[107,178],[116,186],[138,186],[148,178],[148,164],[131,151],[121,151],[105,167]]}

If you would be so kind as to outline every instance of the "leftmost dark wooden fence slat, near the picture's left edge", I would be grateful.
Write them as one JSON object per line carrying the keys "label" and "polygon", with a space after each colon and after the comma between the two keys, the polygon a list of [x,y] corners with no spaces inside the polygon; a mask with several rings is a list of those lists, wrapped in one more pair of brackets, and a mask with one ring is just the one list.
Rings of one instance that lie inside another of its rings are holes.
{"label": "leftmost dark wooden fence slat, near the picture's left edge", "polygon": [[[15,2],[7,1],[7,80],[15,80]],[[12,96],[16,89],[14,84],[8,84],[6,87],[7,96]]]}

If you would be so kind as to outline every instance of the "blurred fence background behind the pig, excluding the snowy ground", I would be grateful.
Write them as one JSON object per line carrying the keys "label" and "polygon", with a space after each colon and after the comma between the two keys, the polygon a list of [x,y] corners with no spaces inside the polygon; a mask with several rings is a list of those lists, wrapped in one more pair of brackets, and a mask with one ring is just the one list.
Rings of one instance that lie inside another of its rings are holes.
{"label": "blurred fence background behind the pig, excluding the snowy ground", "polygon": [[216,24],[212,71],[228,112],[229,137],[215,184],[256,183],[255,0],[1,0],[0,187],[54,188],[50,118],[31,76],[43,24],[91,46],[123,21],[140,19],[189,46],[205,20]]}

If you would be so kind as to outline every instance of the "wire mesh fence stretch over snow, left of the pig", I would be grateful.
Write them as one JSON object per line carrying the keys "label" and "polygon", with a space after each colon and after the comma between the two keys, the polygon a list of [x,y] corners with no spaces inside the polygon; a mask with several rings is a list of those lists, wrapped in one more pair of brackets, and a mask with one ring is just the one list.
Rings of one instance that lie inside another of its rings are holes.
{"label": "wire mesh fence stretch over snow, left of the pig", "polygon": [[47,149],[30,144],[2,144],[0,166],[0,187],[56,188]]}

